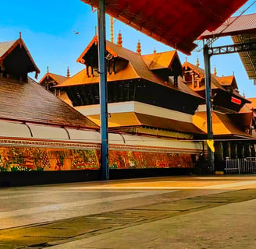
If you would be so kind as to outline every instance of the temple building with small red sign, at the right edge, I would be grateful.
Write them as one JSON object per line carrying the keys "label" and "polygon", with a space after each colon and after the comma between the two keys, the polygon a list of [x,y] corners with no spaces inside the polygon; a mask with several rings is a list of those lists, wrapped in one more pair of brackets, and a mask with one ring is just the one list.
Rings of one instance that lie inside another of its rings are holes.
{"label": "temple building with small red sign, at the right edge", "polygon": [[[200,96],[205,96],[204,69],[186,61],[183,79],[187,86]],[[238,92],[234,75],[217,76],[216,68],[211,75],[212,130],[215,139],[215,157],[218,161],[229,158],[255,156],[255,112],[251,101]],[[198,107],[193,121],[197,128],[207,132],[205,105]]]}

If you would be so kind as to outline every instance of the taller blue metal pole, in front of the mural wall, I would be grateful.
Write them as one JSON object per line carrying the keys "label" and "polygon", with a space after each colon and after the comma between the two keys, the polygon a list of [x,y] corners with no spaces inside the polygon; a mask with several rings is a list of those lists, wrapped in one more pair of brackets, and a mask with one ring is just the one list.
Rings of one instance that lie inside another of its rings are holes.
{"label": "taller blue metal pole, in front of the mural wall", "polygon": [[108,89],[105,66],[106,32],[105,0],[98,2],[98,71],[101,104],[101,180],[109,179],[108,171]]}

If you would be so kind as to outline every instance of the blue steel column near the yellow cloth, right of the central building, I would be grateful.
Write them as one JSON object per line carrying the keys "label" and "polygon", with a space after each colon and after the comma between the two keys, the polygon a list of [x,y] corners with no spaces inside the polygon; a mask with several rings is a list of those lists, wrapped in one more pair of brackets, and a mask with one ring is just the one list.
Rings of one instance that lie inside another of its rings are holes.
{"label": "blue steel column near the yellow cloth, right of the central building", "polygon": [[[204,45],[204,80],[205,80],[205,100],[207,114],[207,139],[213,139],[212,133],[212,89],[211,89],[211,64],[208,45]],[[211,173],[214,172],[214,153],[208,146],[208,167]]]}

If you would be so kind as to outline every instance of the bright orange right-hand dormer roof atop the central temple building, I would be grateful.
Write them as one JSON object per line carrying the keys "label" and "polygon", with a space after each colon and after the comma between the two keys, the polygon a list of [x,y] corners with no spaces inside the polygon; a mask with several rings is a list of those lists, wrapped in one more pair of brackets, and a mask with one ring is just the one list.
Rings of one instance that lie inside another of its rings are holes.
{"label": "bright orange right-hand dormer roof atop the central temple building", "polygon": [[175,56],[177,56],[177,52],[174,50],[162,53],[144,54],[142,55],[142,58],[144,59],[146,65],[148,65],[148,68],[154,70],[169,68],[169,66],[172,65],[172,61]]}

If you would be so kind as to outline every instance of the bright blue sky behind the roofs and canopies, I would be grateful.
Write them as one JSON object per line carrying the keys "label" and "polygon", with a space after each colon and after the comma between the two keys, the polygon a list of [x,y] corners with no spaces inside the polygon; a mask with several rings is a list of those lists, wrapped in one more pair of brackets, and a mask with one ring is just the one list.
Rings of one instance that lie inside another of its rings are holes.
{"label": "bright blue sky behind the roofs and canopies", "polygon": [[[252,2],[254,1],[248,1],[246,6]],[[94,37],[97,12],[92,12],[91,6],[85,5],[80,0],[12,0],[2,1],[1,9],[0,41],[16,40],[21,31],[30,54],[41,70],[38,79],[44,75],[47,66],[50,72],[60,75],[66,75],[68,66],[71,75],[84,68],[84,65],[76,62],[76,58]],[[256,4],[246,13],[255,12]],[[107,39],[110,40],[108,16],[106,21]],[[154,47],[158,52],[172,50],[172,47],[165,46],[118,20],[114,23],[115,42],[119,30],[123,34],[123,47],[132,51],[136,51],[138,40],[141,43],[142,54],[152,53]],[[222,44],[232,44],[231,38],[219,39],[214,45]],[[183,63],[187,55],[180,52],[179,55]],[[200,66],[204,68],[202,51],[193,52],[190,57],[187,57],[187,61],[195,64],[197,56]],[[248,79],[238,54],[213,56],[212,72],[214,66],[217,68],[217,75],[220,76],[233,75],[235,72],[240,93],[245,93],[246,97],[256,97],[256,86],[252,80]]]}

